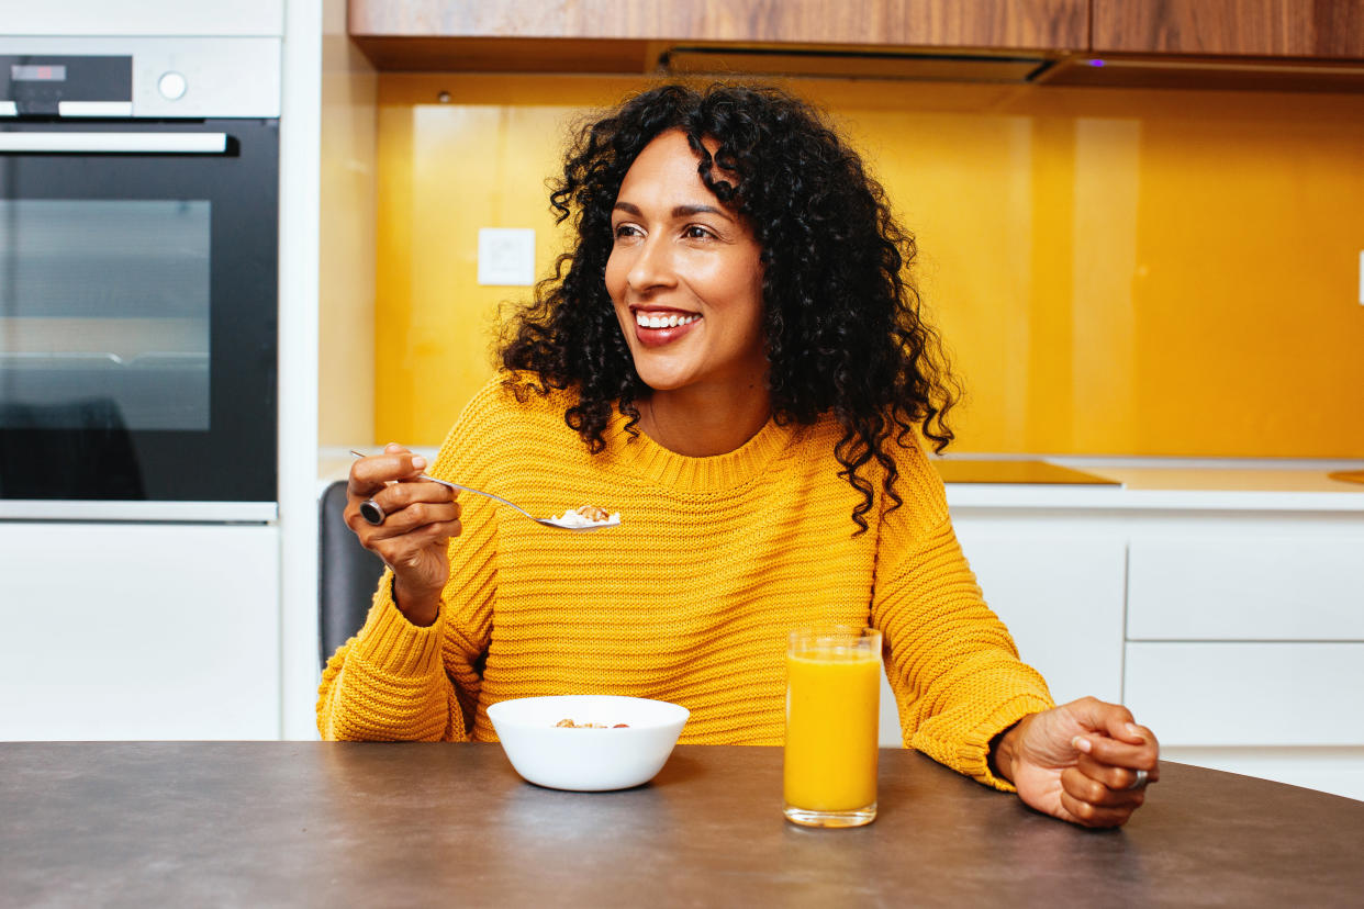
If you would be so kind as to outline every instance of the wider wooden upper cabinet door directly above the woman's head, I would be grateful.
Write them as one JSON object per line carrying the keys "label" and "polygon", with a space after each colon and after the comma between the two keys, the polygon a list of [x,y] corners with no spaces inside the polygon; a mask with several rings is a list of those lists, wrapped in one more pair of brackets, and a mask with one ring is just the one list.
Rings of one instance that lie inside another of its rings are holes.
{"label": "wider wooden upper cabinet door directly above the woman's head", "polygon": [[1083,50],[1090,0],[351,0],[386,38],[690,41]]}

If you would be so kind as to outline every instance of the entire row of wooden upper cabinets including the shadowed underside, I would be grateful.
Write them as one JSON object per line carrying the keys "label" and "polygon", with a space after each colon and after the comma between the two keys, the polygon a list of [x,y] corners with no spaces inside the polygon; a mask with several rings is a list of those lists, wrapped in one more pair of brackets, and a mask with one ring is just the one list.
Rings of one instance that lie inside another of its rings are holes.
{"label": "entire row of wooden upper cabinets including the shadowed underside", "polygon": [[[348,15],[351,38],[379,70],[640,74],[719,65],[787,75],[1024,82],[1042,74],[1041,82],[1056,84],[1364,89],[1356,63],[1364,60],[1364,0],[349,0]],[[1109,65],[1087,65],[1090,55],[1109,56]],[[992,64],[985,75],[982,60]]]}

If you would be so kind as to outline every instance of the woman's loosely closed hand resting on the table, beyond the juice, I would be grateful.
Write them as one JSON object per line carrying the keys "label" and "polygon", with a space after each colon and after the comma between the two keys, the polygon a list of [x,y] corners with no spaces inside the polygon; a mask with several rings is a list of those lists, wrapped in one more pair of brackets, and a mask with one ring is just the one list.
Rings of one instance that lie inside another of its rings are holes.
{"label": "woman's loosely closed hand resting on the table, beyond the juice", "polygon": [[1035,713],[1004,733],[1001,775],[1024,803],[1086,827],[1118,827],[1161,778],[1161,747],[1123,705],[1097,698]]}

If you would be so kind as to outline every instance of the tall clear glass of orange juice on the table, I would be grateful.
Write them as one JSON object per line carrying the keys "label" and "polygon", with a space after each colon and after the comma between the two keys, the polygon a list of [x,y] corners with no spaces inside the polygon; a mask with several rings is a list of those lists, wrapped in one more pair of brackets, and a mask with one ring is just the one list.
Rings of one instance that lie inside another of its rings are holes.
{"label": "tall clear glass of orange juice on the table", "polygon": [[801,628],[786,649],[786,816],[807,827],[876,820],[881,632]]}

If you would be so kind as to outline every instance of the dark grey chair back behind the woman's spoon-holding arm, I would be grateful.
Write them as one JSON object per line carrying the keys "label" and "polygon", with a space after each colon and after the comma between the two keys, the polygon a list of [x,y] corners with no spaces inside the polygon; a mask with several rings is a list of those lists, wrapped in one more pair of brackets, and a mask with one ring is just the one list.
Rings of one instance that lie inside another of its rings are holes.
{"label": "dark grey chair back behind the woman's spoon-holding arm", "polygon": [[318,522],[318,657],[327,660],[364,624],[383,559],[360,545],[345,526],[345,480],[322,493]]}

